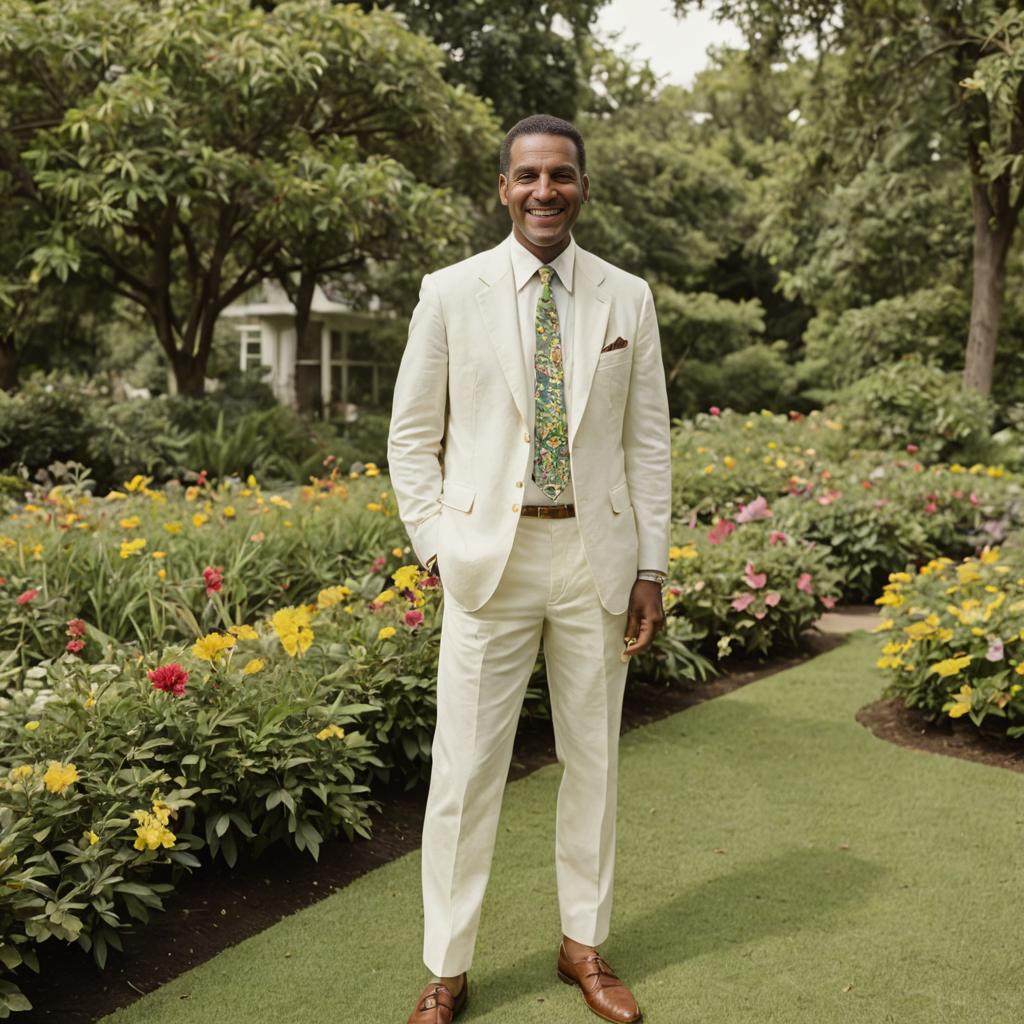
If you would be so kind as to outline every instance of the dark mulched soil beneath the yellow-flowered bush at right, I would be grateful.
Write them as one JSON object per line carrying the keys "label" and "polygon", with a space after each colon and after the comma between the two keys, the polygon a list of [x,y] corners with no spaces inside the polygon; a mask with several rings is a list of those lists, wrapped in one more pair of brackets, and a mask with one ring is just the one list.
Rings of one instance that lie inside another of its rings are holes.
{"label": "dark mulched soil beneath the yellow-flowered bush at right", "polygon": [[861,708],[857,721],[880,739],[900,746],[1024,772],[1024,750],[1020,740],[1008,739],[998,733],[979,732],[966,720],[930,722],[923,712],[905,708],[895,697]]}

